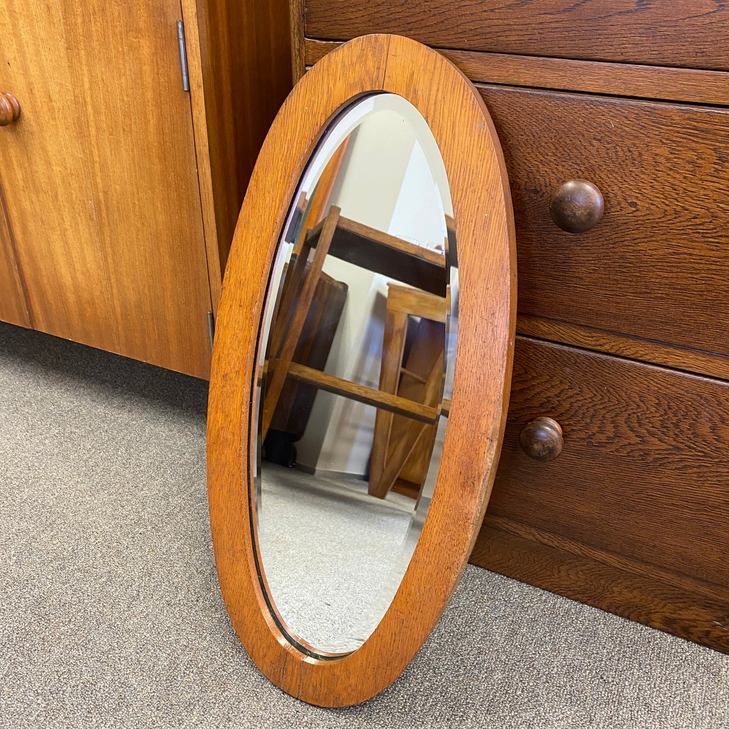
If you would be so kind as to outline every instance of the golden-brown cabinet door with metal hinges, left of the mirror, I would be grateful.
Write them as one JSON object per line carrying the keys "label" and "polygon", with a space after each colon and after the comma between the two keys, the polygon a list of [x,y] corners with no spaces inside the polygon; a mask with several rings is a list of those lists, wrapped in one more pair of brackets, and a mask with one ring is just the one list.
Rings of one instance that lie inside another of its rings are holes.
{"label": "golden-brown cabinet door with metal hinges, left of the mirror", "polygon": [[179,0],[4,0],[0,181],[36,329],[208,375]]}

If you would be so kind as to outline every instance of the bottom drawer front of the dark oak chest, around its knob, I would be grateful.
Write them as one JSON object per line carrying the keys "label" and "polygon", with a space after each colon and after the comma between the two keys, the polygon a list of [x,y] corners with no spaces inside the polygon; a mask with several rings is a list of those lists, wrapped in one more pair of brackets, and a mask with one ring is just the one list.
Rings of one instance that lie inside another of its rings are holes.
{"label": "bottom drawer front of the dark oak chest, around its knob", "polygon": [[[564,450],[519,445],[550,416]],[[518,338],[488,514],[729,585],[729,384]]]}

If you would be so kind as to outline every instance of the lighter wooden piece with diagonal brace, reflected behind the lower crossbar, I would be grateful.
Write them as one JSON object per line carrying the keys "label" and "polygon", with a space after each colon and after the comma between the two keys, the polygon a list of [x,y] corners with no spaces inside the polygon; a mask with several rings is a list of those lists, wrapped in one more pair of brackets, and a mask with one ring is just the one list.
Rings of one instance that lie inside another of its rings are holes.
{"label": "lighter wooden piece with diagonal brace, reflected behind the lower crossbar", "polygon": [[[443,389],[448,297],[388,284],[379,388],[437,408]],[[418,317],[413,321],[411,317]],[[408,324],[410,323],[410,327]],[[405,340],[410,328],[410,351]],[[368,491],[383,499],[391,488],[416,497],[425,482],[437,424],[378,410]]]}

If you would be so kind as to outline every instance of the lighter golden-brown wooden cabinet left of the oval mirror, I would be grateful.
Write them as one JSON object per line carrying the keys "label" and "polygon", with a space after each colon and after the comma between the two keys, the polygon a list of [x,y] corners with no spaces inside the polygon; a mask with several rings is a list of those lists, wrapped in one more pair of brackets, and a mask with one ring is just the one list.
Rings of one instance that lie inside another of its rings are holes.
{"label": "lighter golden-brown wooden cabinet left of the oval mirror", "polygon": [[[272,26],[246,50],[241,32],[276,11],[278,44]],[[208,375],[227,210],[290,87],[286,13],[274,0],[2,4],[0,91],[21,109],[0,128],[2,319]]]}

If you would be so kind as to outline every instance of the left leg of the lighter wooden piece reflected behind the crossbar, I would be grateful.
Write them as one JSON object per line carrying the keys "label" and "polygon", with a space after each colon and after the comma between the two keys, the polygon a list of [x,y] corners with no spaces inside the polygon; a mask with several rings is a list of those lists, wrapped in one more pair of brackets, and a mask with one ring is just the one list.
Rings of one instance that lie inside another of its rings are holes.
{"label": "left leg of the lighter wooden piece reflected behind the crossbar", "polygon": [[[387,311],[385,331],[382,341],[382,363],[380,365],[379,389],[389,394],[397,394],[402,351],[405,348],[405,335],[408,333],[408,315],[402,311]],[[378,410],[375,414],[375,432],[370,458],[370,484],[367,491],[373,496],[385,467],[387,444],[390,440],[392,413]]]}

